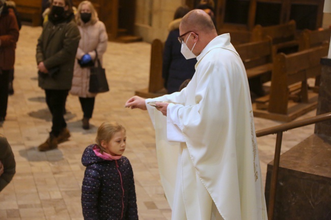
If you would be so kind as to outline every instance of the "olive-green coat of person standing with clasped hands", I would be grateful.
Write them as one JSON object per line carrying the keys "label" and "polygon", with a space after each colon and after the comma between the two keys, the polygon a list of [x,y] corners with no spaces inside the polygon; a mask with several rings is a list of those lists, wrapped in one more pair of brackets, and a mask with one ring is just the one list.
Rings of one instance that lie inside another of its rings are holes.
{"label": "olive-green coat of person standing with clasped hands", "polygon": [[71,88],[79,39],[80,34],[73,14],[61,23],[48,21],[44,24],[37,44],[37,64],[44,62],[49,72],[57,69],[57,73],[53,77],[47,74],[39,75],[39,87],[56,90]]}

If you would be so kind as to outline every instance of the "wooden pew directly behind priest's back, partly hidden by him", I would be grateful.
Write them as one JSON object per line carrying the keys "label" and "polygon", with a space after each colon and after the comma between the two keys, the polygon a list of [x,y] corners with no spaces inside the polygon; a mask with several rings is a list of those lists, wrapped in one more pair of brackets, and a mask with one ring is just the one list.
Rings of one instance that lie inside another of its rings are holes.
{"label": "wooden pew directly behind priest's back, partly hidden by him", "polygon": [[271,39],[266,37],[263,41],[235,45],[235,49],[245,66],[250,90],[259,96],[263,96],[263,83],[271,79]]}

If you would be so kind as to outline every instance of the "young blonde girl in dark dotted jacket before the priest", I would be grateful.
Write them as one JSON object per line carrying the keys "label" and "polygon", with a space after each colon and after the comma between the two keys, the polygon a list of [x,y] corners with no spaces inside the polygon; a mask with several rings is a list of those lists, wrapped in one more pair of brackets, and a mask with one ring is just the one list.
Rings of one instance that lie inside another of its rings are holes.
{"label": "young blonde girl in dark dotted jacket before the priest", "polygon": [[117,122],[100,125],[96,144],[81,158],[86,166],[81,187],[84,219],[138,219],[132,167],[122,156],[125,128]]}

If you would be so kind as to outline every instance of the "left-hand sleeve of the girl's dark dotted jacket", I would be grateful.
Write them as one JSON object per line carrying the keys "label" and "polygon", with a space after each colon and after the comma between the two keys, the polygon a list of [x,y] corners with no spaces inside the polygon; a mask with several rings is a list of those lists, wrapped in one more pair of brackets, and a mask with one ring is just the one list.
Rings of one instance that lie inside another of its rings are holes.
{"label": "left-hand sleeve of the girl's dark dotted jacket", "polygon": [[94,169],[94,164],[85,170],[81,186],[81,207],[85,220],[99,220],[98,197],[101,175]]}

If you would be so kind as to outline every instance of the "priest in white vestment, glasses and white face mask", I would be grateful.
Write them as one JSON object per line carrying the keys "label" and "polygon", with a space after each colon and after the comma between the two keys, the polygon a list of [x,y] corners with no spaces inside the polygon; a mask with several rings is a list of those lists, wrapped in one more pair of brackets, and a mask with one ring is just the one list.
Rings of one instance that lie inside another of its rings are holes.
{"label": "priest in white vestment, glasses and white face mask", "polygon": [[193,10],[180,23],[182,54],[197,58],[180,92],[132,97],[148,110],[172,220],[267,220],[250,89],[230,35],[217,36],[209,15]]}

